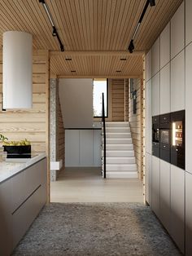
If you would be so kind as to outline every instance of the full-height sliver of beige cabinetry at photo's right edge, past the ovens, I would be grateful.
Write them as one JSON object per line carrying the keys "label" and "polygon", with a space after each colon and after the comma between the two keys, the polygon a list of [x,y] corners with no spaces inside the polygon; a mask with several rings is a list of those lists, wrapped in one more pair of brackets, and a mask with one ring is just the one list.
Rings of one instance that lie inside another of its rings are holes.
{"label": "full-height sliver of beige cabinetry at photo's right edge, past the ovens", "polygon": [[185,0],[185,255],[192,255],[192,1]]}

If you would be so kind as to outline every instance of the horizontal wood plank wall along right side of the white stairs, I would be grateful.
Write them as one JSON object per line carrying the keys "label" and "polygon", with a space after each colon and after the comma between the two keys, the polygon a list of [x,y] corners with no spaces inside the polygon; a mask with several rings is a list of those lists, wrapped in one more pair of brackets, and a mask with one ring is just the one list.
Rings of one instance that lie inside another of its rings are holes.
{"label": "horizontal wood plank wall along right side of the white stairs", "polygon": [[142,179],[142,79],[133,79],[133,90],[137,90],[137,113],[133,114],[133,99],[129,95],[129,122],[137,163],[137,172]]}

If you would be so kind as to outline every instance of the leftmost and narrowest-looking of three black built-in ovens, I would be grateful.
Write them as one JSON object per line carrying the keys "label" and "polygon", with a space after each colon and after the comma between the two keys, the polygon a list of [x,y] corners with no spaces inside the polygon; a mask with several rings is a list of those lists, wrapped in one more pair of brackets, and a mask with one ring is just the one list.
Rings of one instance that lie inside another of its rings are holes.
{"label": "leftmost and narrowest-looking of three black built-in ovens", "polygon": [[152,155],[160,157],[159,150],[159,116],[152,117]]}

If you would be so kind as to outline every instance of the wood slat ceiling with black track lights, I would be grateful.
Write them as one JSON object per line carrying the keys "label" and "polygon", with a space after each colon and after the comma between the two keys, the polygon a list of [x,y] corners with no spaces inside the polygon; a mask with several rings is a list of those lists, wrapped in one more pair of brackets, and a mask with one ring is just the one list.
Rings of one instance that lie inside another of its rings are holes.
{"label": "wood slat ceiling with black track lights", "polygon": [[[146,0],[46,0],[66,51],[127,51]],[[156,0],[148,7],[134,41],[135,49],[150,49],[182,0]],[[58,51],[50,21],[38,0],[0,0],[0,43],[8,30],[33,34],[34,49]],[[52,73],[59,76],[140,76],[142,55],[53,55]],[[76,70],[76,73],[71,73]],[[116,73],[116,70],[121,70]]]}

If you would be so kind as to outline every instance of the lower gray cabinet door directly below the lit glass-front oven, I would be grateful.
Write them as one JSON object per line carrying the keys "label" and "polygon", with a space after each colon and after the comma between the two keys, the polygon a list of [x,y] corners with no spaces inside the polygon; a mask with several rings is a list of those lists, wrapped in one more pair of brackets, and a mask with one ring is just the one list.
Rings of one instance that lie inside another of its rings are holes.
{"label": "lower gray cabinet door directly below the lit glass-front oven", "polygon": [[185,239],[185,170],[171,165],[171,226],[170,234],[184,253]]}

